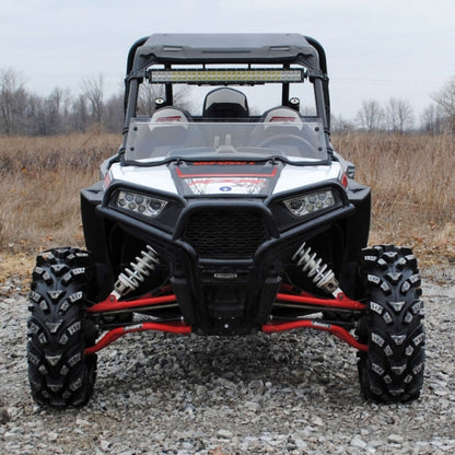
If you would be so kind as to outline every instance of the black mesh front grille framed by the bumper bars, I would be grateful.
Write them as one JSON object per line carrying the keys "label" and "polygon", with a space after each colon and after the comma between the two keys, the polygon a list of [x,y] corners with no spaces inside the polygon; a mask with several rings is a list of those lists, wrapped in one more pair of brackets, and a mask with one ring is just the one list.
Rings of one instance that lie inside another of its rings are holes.
{"label": "black mesh front grille framed by the bumper bars", "polygon": [[250,258],[267,240],[264,219],[252,211],[203,211],[189,217],[184,240],[203,258]]}

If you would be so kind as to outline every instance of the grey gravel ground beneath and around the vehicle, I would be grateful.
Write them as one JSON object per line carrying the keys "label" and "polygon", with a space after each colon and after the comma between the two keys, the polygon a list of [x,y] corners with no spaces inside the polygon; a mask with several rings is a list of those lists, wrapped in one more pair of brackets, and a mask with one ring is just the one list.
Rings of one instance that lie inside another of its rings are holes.
{"label": "grey gravel ground beneath and around the vehicle", "polygon": [[453,454],[455,271],[423,275],[422,397],[360,396],[354,349],[324,332],[243,338],[135,334],[100,353],[88,406],[31,398],[26,290],[0,283],[1,454]]}

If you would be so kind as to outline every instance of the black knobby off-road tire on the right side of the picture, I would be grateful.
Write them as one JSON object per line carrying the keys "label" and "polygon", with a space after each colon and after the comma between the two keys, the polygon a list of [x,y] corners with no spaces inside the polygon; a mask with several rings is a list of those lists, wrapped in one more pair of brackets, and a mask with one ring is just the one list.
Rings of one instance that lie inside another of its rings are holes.
{"label": "black knobby off-road tire on the right side of the picture", "polygon": [[420,396],[424,368],[423,305],[411,249],[382,245],[362,252],[366,314],[358,335],[361,389],[376,402],[406,402]]}

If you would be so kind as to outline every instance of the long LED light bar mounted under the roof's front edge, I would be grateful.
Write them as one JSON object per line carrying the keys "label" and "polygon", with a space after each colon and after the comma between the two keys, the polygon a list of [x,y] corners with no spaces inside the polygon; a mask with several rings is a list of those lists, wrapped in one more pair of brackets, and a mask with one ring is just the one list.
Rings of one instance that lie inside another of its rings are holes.
{"label": "long LED light bar mounted under the roof's front edge", "polygon": [[152,84],[264,84],[267,82],[302,82],[304,71],[299,69],[151,70],[149,79]]}

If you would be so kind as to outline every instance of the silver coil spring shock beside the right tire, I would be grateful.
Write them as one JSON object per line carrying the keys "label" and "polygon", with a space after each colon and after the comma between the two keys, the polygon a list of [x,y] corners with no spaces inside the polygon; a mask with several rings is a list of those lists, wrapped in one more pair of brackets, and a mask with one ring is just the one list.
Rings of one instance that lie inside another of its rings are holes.
{"label": "silver coil spring shock beside the right tire", "polygon": [[305,248],[305,242],[292,256],[292,260],[298,260],[298,266],[303,266],[304,271],[313,282],[324,291],[337,296],[341,290],[339,282],[335,278],[335,273],[330,270],[327,264],[323,264],[323,259],[316,258],[316,253],[312,254],[312,248]]}

